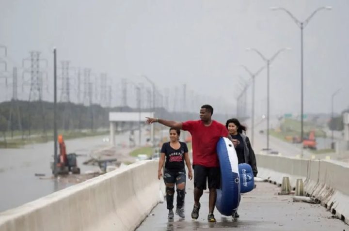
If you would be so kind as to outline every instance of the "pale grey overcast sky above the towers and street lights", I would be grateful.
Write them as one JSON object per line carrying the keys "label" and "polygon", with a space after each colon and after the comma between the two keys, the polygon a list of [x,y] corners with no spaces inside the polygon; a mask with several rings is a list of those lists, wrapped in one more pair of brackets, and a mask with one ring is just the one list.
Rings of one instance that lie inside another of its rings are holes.
{"label": "pale grey overcast sky above the towers and street lights", "polygon": [[[144,74],[170,95],[186,83],[189,91],[207,95],[213,107],[221,99],[221,108],[226,105],[228,111],[236,110],[238,75],[250,78],[236,65],[253,71],[264,65],[246,47],[267,57],[290,47],[270,67],[270,108],[271,114],[297,114],[300,29],[285,12],[270,7],[285,7],[304,20],[325,5],[333,10],[318,12],[304,29],[304,110],[330,112],[331,95],[341,88],[334,103],[340,112],[349,106],[348,0],[0,0],[0,44],[8,48],[9,70],[21,68],[29,51],[41,51],[49,62],[50,84],[53,46],[59,61],[89,67],[96,75],[108,73],[115,85],[114,104],[120,104],[120,78],[147,85],[139,77]],[[265,113],[266,75],[263,71],[256,77],[258,114]],[[50,84],[46,99],[52,98]],[[5,88],[1,78],[0,101],[11,97],[11,87]],[[20,98],[28,92],[29,86],[18,89]]]}

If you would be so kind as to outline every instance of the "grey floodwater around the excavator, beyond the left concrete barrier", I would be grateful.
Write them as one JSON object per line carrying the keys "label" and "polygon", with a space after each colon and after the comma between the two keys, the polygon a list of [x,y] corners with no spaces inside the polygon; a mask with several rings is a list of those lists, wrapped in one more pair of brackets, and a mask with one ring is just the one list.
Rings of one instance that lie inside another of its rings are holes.
{"label": "grey floodwater around the excavator, beyond the left concrete barrier", "polygon": [[[81,173],[97,167],[82,165],[92,151],[108,146],[103,138],[91,137],[65,141],[67,153],[76,153]],[[53,161],[53,142],[27,145],[22,149],[0,149],[0,212],[46,196],[73,185],[50,179]],[[40,179],[35,173],[45,174]]]}

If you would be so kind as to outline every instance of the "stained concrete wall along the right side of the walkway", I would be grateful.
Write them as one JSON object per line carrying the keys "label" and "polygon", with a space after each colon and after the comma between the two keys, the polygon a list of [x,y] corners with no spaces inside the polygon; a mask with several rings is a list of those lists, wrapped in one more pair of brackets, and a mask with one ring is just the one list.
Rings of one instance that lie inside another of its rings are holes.
{"label": "stained concrete wall along the right side of the walkway", "polygon": [[317,198],[334,215],[349,223],[349,164],[333,160],[309,160],[256,154],[258,176],[280,185],[284,176],[304,182],[307,196]]}

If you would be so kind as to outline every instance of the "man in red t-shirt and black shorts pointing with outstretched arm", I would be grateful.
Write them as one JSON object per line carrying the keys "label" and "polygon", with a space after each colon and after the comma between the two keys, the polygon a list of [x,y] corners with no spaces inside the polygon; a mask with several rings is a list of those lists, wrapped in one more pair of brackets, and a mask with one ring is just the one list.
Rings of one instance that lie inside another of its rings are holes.
{"label": "man in red t-shirt and black shorts pointing with outstretched arm", "polygon": [[189,131],[192,137],[193,169],[194,169],[194,208],[191,217],[197,219],[200,210],[200,198],[206,189],[206,180],[209,189],[209,222],[216,222],[213,215],[217,199],[216,189],[220,187],[221,171],[216,151],[216,145],[220,137],[229,138],[234,146],[238,140],[231,139],[226,127],[212,120],[213,108],[210,105],[203,105],[200,109],[200,120],[176,122],[162,120],[159,118],[148,118],[147,123],[161,123],[175,129]]}

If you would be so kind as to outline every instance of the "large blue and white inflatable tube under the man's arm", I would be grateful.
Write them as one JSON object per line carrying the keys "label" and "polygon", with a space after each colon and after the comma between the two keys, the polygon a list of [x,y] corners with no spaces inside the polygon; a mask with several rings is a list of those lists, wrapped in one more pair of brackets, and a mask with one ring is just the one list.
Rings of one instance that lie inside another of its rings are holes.
{"label": "large blue and white inflatable tube under the man's arm", "polygon": [[240,202],[238,157],[233,143],[220,138],[217,154],[221,166],[221,188],[217,189],[216,208],[224,216],[232,216]]}

